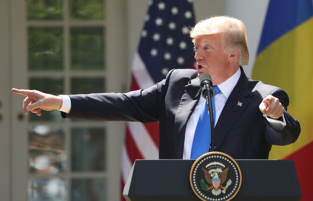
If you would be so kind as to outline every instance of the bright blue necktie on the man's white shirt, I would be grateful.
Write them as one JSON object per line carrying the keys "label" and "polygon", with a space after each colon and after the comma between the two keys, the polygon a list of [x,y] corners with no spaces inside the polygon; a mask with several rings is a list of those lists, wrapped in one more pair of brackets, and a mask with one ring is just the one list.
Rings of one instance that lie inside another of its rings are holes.
{"label": "bright blue necktie on the man's white shirt", "polygon": [[[213,86],[213,89],[214,95],[221,92],[218,86]],[[214,96],[212,98],[212,107],[213,107],[213,118],[215,122]],[[208,114],[208,105],[207,102],[205,101],[198,120],[195,135],[193,137],[190,159],[198,159],[201,155],[208,153],[210,143],[211,143],[210,116]]]}

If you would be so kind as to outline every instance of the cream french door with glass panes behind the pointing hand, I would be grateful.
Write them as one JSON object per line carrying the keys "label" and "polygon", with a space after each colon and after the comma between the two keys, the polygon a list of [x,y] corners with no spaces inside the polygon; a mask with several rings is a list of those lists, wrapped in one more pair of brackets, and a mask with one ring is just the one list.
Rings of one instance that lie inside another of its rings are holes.
{"label": "cream french door with glass panes behind the pointing hand", "polygon": [[24,97],[10,89],[122,92],[124,3],[1,1],[1,200],[119,200],[125,123],[24,115]]}

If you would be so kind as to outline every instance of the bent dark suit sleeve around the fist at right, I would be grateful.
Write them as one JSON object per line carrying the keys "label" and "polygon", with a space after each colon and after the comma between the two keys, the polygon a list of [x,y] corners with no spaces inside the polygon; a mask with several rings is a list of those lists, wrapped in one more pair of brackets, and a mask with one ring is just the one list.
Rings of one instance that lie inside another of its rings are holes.
{"label": "bent dark suit sleeve around the fist at right", "polygon": [[287,106],[289,105],[289,98],[285,91],[282,89],[277,89],[271,93],[272,96],[280,99],[280,103],[285,108],[284,116],[286,121],[286,126],[283,130],[277,131],[274,128],[272,128],[268,121],[265,120],[265,138],[266,140],[273,145],[289,145],[291,143],[294,143],[299,135],[300,135],[300,123],[298,120],[295,120],[288,112],[287,112]]}

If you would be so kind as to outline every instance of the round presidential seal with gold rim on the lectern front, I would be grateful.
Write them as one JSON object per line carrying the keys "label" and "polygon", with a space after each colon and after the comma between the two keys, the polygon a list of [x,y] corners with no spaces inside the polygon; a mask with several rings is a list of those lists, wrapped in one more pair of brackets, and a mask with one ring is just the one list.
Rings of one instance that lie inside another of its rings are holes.
{"label": "round presidential seal with gold rim on the lectern front", "polygon": [[209,152],[192,165],[190,184],[201,200],[227,201],[233,199],[240,188],[241,172],[229,155]]}

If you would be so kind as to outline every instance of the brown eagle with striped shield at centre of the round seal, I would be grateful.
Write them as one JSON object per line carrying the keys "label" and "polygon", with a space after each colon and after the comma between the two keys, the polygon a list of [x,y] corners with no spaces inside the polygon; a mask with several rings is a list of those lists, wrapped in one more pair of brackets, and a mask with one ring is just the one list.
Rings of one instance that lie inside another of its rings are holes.
{"label": "brown eagle with striped shield at centre of the round seal", "polygon": [[[223,187],[222,184],[226,180],[228,169],[229,169],[229,167],[224,169],[223,171],[220,168],[218,168],[218,169],[210,169],[209,171],[207,171],[206,169],[202,168],[205,179],[211,185],[206,190],[211,190],[212,189],[211,192],[212,192],[213,195],[221,194],[221,192],[222,192],[221,189],[225,189],[226,190],[228,188],[228,186]],[[221,173],[221,178],[218,177],[218,173]]]}

